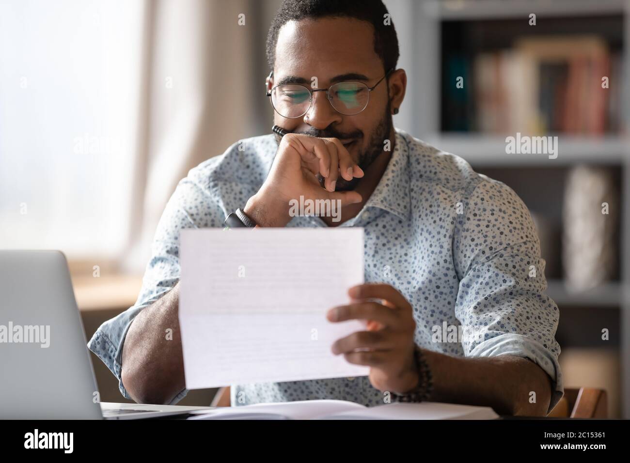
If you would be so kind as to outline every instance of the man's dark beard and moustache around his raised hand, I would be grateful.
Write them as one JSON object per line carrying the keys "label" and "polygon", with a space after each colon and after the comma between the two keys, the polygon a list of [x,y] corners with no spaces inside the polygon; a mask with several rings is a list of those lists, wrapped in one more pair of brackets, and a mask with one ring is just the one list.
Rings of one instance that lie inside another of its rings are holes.
{"label": "man's dark beard and moustache around his raised hand", "polygon": [[[370,137],[370,141],[365,147],[359,151],[358,154],[358,166],[365,172],[365,169],[369,168],[369,166],[374,162],[382,152],[385,144],[385,140],[389,139],[389,135],[392,130],[392,117],[391,117],[391,108],[390,103],[387,101],[387,108],[385,109],[385,113],[383,117],[379,121],[374,132],[372,132],[372,136]],[[356,139],[357,142],[360,142],[364,139],[365,134],[361,130],[357,130],[350,134],[342,134],[341,132],[337,132],[335,129],[331,129],[328,127],[325,130],[318,130],[311,128],[306,132],[295,132],[305,135],[311,135],[312,137],[319,138],[337,138],[337,139]],[[276,135],[276,140],[278,144],[280,144],[280,136]],[[317,174],[317,178],[319,180],[320,185],[324,185],[324,178],[321,174]],[[360,178],[353,178],[352,180],[345,180],[341,175],[337,178],[337,183],[335,185],[335,191],[348,191],[354,190],[357,186]]]}

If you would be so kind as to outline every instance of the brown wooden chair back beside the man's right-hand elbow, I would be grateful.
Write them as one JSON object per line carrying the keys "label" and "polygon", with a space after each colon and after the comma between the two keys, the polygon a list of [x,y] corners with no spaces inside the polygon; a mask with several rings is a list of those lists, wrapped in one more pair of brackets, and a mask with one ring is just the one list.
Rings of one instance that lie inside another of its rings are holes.
{"label": "brown wooden chair back beside the man's right-hand elbow", "polygon": [[554,418],[608,418],[608,394],[604,389],[564,389],[564,397],[549,413]]}

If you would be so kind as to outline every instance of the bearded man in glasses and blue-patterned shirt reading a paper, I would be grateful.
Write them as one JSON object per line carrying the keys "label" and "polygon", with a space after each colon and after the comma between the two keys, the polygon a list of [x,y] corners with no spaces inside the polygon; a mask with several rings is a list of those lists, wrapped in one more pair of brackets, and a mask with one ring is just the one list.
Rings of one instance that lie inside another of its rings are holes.
{"label": "bearded man in glasses and blue-patterned shirt reading a paper", "polygon": [[[507,186],[394,129],[407,81],[384,14],[380,0],[282,4],[268,35],[266,89],[275,123],[289,134],[240,140],[180,181],[137,303],[89,342],[125,397],[176,403],[186,394],[179,232],[222,227],[242,209],[245,222],[261,227],[364,227],[370,283],[349,289],[352,303],[329,308],[327,317],[369,321],[331,350],[369,365],[370,374],[236,384],[233,405],[345,399],[372,406],[389,394],[542,416],[558,402],[558,307],[543,294],[529,212]],[[291,217],[289,204],[301,195],[339,200],[341,220]],[[172,341],[164,340],[166,328]]]}

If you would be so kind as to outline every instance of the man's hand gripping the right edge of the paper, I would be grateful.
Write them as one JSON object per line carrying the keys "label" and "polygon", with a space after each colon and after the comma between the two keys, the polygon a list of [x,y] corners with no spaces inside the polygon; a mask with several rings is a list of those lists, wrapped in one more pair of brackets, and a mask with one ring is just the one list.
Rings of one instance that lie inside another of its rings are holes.
{"label": "man's hand gripping the right edge of the paper", "polygon": [[370,382],[379,391],[396,394],[410,391],[418,384],[413,360],[416,323],[411,304],[386,284],[355,286],[348,294],[352,303],[330,309],[328,320],[365,320],[367,331],[357,331],[335,341],[333,353],[343,354],[350,363],[368,365]]}

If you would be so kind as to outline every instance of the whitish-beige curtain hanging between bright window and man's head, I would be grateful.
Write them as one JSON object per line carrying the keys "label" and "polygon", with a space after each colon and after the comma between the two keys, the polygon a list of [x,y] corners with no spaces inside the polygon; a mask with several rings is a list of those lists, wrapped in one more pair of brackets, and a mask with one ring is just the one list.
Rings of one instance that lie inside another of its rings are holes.
{"label": "whitish-beige curtain hanging between bright window and man's head", "polygon": [[189,169],[236,140],[268,129],[263,121],[271,115],[260,114],[265,69],[256,58],[264,52],[260,14],[248,0],[150,4],[140,116],[144,127],[129,244],[121,254],[126,270],[137,272],[146,265],[164,205]]}

